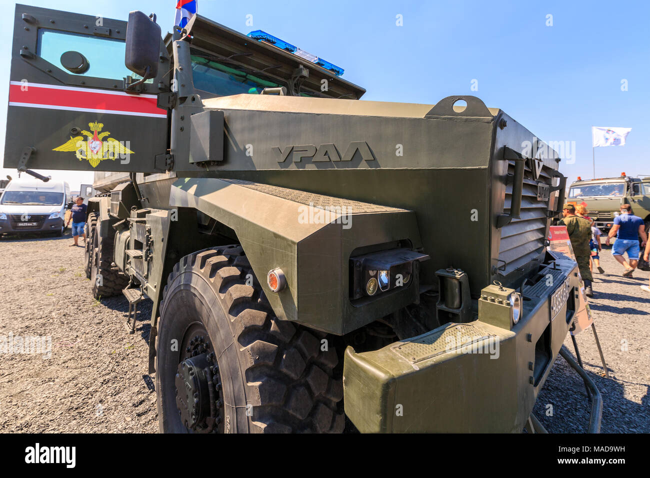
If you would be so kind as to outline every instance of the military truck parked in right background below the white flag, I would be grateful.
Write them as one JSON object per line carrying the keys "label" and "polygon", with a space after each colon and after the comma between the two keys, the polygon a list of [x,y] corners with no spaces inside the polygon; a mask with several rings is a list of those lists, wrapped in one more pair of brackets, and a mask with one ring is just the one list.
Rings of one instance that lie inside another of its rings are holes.
{"label": "military truck parked in right background below the white flag", "polygon": [[582,179],[569,186],[567,202],[584,204],[597,228],[607,232],[620,214],[621,204],[630,204],[632,212],[650,230],[650,178],[632,178],[625,172],[618,178]]}

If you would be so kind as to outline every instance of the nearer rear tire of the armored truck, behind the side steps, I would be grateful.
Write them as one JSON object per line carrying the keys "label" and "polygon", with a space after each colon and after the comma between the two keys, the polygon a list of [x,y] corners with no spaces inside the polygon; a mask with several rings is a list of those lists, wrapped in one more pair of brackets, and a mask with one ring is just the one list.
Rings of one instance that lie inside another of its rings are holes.
{"label": "nearer rear tire of the armored truck, behind the side steps", "polygon": [[[129,277],[122,274],[117,267],[112,267],[114,235],[99,237],[95,228],[92,238],[92,263],[90,265],[90,283],[92,295],[95,299],[112,297],[122,293],[122,289],[129,284]],[[101,274],[101,280],[98,276]]]}

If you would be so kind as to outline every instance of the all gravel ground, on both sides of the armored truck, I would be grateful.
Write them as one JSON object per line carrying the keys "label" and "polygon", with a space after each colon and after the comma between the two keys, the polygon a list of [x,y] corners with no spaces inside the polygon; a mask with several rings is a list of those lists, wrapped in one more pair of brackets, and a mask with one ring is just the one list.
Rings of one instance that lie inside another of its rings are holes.
{"label": "all gravel ground, on both sides of the armored truck", "polygon": [[[0,338],[51,338],[51,356],[3,354],[0,432],[157,432],[153,377],[147,375],[150,302],[142,302],[135,336],[125,332],[128,304],[96,301],[83,271],[83,248],[62,238],[0,239]],[[603,250],[590,300],[610,378],[587,330],[577,336],[582,360],[603,393],[603,432],[650,432],[650,294],[648,272],[621,277]],[[627,346],[627,347],[626,347]],[[571,338],[565,347],[573,352]],[[574,354],[575,356],[575,354]],[[552,416],[547,416],[552,405]],[[535,414],[549,432],[584,432],[584,384],[558,356]]]}

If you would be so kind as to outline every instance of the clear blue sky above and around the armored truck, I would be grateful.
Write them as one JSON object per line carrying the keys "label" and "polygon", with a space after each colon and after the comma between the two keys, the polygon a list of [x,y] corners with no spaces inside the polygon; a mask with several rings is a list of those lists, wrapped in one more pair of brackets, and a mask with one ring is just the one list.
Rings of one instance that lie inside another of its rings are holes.
{"label": "clear blue sky above and around the armored truck", "polygon": [[[155,12],[163,32],[175,14],[175,0],[21,3],[121,20],[129,10]],[[0,98],[6,99],[14,2],[2,4]],[[198,11],[242,33],[262,29],[341,66],[345,79],[366,88],[365,100],[478,96],[540,139],[575,142],[575,163],[560,163],[570,181],[591,177],[591,126],[631,127],[625,146],[596,148],[596,176],[650,175],[650,2],[198,0]],[[5,122],[3,100],[1,131]],[[4,135],[0,145],[4,150]],[[92,176],[49,174],[68,178],[73,189]]]}

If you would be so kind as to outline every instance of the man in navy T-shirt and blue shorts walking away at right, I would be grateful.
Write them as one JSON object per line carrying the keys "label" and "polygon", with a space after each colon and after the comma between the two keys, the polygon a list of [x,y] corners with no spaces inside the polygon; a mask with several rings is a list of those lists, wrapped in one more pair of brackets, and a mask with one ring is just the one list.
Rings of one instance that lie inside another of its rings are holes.
{"label": "man in navy T-shirt and blue shorts walking away at right", "polygon": [[[623,276],[631,277],[639,262],[639,236],[641,236],[642,247],[647,243],[647,236],[643,219],[632,214],[632,206],[629,204],[621,204],[621,215],[614,219],[614,226],[605,239],[606,245],[610,244],[610,239],[614,235],[616,235],[616,241],[612,246],[612,256],[625,267]],[[623,258],[625,252],[627,252],[627,259],[630,261],[629,264]]]}

